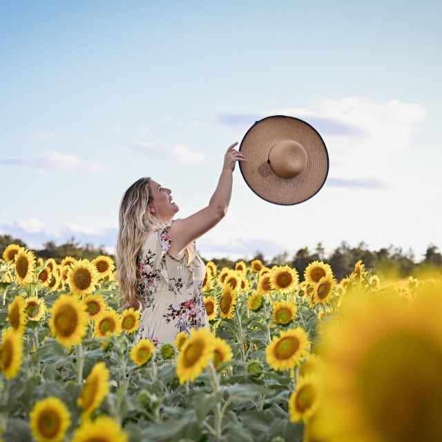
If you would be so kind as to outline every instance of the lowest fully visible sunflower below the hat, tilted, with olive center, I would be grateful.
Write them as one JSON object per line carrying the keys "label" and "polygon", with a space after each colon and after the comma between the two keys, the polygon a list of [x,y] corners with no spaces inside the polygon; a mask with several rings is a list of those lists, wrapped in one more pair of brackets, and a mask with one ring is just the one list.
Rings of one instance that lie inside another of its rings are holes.
{"label": "lowest fully visible sunflower below the hat, tilted, with olive center", "polygon": [[300,327],[280,332],[280,336],[273,337],[267,345],[265,355],[267,363],[281,372],[296,367],[307,355],[309,345],[307,335]]}

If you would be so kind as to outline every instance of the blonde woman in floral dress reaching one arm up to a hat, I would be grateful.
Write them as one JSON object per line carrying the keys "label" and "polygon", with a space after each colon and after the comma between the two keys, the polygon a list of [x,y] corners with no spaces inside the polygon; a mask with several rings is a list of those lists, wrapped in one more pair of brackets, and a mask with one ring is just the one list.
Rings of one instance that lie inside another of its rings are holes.
{"label": "blonde woman in floral dress reaching one arm up to a hat", "polygon": [[236,161],[246,161],[232,144],[224,155],[218,186],[209,205],[189,218],[179,211],[171,190],[144,177],[124,193],[119,207],[117,280],[123,310],[142,309],[136,340],[173,343],[179,332],[209,327],[202,298],[206,275],[195,240],[226,215]]}

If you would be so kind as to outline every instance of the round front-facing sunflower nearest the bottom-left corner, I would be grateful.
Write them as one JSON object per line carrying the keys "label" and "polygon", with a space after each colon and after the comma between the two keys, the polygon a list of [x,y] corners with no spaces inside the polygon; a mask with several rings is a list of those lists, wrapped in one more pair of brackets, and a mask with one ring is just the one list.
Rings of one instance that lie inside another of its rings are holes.
{"label": "round front-facing sunflower nearest the bottom-left corner", "polygon": [[29,418],[32,436],[39,442],[63,441],[70,426],[68,407],[55,396],[36,402]]}

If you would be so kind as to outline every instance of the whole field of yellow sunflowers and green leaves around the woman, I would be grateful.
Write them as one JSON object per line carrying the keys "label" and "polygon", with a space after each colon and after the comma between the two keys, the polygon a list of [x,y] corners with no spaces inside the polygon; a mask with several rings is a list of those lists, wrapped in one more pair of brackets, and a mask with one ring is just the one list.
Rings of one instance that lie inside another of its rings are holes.
{"label": "whole field of yellow sunflowers and green leaves around the woman", "polygon": [[436,275],[208,262],[210,329],[159,346],[136,342],[110,257],[2,258],[2,441],[441,439]]}

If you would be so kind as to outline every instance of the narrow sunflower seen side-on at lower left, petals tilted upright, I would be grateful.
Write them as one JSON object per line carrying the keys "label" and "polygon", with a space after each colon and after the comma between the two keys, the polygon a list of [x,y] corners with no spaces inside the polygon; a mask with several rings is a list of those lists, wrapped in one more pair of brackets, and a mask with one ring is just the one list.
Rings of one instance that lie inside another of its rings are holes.
{"label": "narrow sunflower seen side-on at lower left, petals tilted upright", "polygon": [[93,366],[84,382],[77,405],[83,409],[81,419],[87,419],[99,407],[109,392],[109,370],[106,363],[98,362]]}

